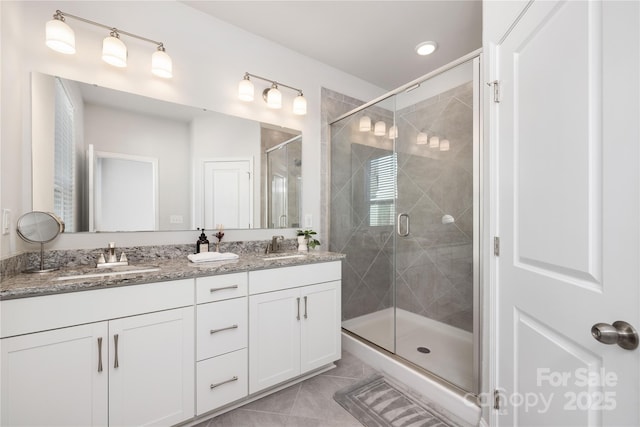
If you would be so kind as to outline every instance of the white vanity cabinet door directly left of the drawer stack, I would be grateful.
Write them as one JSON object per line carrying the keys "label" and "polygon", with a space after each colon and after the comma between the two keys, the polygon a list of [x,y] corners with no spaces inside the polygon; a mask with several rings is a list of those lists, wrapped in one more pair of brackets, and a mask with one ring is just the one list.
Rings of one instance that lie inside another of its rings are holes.
{"label": "white vanity cabinet door directly left of the drawer stack", "polygon": [[193,417],[193,307],[112,320],[109,339],[110,425],[172,425]]}

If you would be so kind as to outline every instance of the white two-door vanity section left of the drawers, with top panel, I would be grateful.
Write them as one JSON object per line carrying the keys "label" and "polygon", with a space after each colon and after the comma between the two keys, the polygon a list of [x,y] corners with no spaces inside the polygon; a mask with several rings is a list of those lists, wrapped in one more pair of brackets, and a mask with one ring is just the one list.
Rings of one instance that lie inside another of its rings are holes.
{"label": "white two-door vanity section left of the drawers, with top panel", "polygon": [[191,279],[2,301],[2,425],[193,417],[193,289]]}

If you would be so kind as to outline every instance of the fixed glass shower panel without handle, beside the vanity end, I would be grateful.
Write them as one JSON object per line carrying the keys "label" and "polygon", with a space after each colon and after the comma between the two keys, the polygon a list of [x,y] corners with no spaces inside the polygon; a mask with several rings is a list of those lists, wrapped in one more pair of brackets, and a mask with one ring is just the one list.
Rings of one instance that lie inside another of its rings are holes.
{"label": "fixed glass shower panel without handle, beside the vanity end", "polygon": [[[343,263],[343,327],[395,352],[394,101],[332,125],[330,250]],[[383,129],[384,128],[384,129]]]}

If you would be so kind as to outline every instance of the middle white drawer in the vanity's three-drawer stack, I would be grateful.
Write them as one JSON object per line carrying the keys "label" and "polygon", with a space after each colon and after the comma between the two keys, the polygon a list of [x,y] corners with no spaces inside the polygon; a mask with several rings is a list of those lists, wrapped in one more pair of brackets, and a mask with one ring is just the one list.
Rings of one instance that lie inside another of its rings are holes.
{"label": "middle white drawer in the vanity's three-drawer stack", "polygon": [[197,306],[197,360],[247,346],[247,298]]}

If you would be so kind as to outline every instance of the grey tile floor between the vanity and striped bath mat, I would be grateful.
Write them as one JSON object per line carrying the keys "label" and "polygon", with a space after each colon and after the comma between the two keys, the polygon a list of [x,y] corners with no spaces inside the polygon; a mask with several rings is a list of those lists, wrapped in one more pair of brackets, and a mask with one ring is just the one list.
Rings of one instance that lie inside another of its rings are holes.
{"label": "grey tile floor between the vanity and striped bath mat", "polygon": [[205,420],[196,427],[362,427],[333,394],[375,371],[348,352],[337,368]]}

